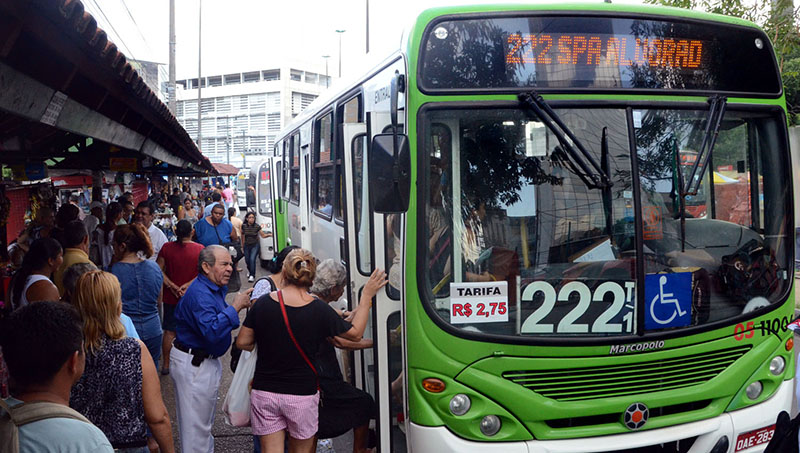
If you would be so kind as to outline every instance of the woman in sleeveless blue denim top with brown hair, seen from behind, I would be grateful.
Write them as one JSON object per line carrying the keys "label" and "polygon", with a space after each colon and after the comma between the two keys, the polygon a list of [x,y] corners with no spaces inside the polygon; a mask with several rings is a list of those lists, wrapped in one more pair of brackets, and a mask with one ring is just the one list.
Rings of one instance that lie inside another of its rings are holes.
{"label": "woman in sleeveless blue denim top with brown hair, seen from behind", "polygon": [[139,338],[158,368],[161,357],[161,321],[158,300],[164,277],[154,261],[150,234],[139,223],[120,225],[114,230],[114,258],[111,273],[122,287],[122,312],[133,321]]}

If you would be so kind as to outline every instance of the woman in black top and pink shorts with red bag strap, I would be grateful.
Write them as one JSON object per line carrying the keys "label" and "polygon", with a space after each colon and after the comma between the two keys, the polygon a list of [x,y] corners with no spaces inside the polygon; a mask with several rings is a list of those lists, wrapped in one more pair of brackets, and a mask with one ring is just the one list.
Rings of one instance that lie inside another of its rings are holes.
{"label": "woman in black top and pink shorts with red bag strap", "polygon": [[[327,337],[359,341],[367,325],[372,300],[361,301],[351,325],[308,293],[315,273],[311,252],[289,253],[283,263],[284,287],[253,305],[236,340],[236,346],[245,350],[258,345],[251,424],[264,453],[282,453],[287,431],[291,453],[312,450],[318,427],[319,379],[307,358],[316,355]],[[284,321],[281,299],[291,330]]]}

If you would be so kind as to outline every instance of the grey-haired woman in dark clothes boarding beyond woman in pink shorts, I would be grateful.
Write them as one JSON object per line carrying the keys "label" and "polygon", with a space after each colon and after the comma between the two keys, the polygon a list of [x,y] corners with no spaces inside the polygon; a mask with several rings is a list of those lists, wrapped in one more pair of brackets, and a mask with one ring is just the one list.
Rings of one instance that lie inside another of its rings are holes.
{"label": "grey-haired woman in dark clothes boarding beyond woman in pink shorts", "polygon": [[[386,284],[385,275],[380,269],[372,273],[361,293],[362,301],[375,297],[378,290]],[[332,303],[342,297],[346,286],[347,269],[341,263],[327,259],[317,266],[310,292],[324,302]],[[367,305],[359,304],[359,307],[365,306]],[[353,453],[365,452],[368,451],[369,421],[375,417],[375,401],[369,393],[344,381],[334,345],[347,350],[366,349],[372,347],[372,340],[364,338],[355,342],[333,337],[320,345],[313,358],[322,389],[317,437],[338,437],[352,429]]]}

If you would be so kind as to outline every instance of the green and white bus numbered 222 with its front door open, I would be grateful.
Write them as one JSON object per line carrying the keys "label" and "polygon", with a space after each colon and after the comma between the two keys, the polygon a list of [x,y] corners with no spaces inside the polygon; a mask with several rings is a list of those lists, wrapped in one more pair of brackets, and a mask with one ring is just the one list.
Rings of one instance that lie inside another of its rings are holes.
{"label": "green and white bus numbered 222 with its front door open", "polygon": [[790,409],[786,107],[754,24],[426,10],[276,147],[342,303],[388,269],[343,354],[380,451],[763,451]]}

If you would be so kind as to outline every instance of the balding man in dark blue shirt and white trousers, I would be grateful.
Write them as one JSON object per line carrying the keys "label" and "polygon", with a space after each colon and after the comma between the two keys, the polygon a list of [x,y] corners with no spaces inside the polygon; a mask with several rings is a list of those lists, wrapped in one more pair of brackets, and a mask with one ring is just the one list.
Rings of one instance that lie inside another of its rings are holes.
{"label": "balding man in dark blue shirt and white trousers", "polygon": [[237,293],[232,305],[225,303],[226,285],[233,272],[233,260],[225,247],[203,249],[198,271],[175,309],[170,376],[175,384],[181,450],[212,453],[211,427],[222,377],[219,357],[230,347],[231,331],[239,327],[238,312],[250,307],[253,290]]}

